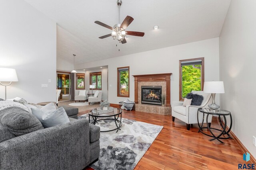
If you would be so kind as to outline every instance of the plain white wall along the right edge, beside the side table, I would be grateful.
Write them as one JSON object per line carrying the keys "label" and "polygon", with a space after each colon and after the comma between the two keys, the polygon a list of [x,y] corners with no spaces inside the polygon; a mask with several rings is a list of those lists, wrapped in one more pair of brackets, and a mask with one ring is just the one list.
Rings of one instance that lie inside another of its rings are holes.
{"label": "plain white wall along the right edge, beside the side table", "polygon": [[[232,0],[220,34],[221,107],[231,111],[232,131],[256,157],[256,1]],[[241,155],[242,156],[242,155]]]}

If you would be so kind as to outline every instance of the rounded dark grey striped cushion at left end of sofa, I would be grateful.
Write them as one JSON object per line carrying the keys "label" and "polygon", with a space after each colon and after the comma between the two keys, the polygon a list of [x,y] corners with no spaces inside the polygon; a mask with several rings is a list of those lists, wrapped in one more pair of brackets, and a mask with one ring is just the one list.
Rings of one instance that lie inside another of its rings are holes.
{"label": "rounded dark grey striped cushion at left end of sofa", "polygon": [[20,107],[9,107],[1,110],[0,121],[15,136],[44,129],[34,115]]}

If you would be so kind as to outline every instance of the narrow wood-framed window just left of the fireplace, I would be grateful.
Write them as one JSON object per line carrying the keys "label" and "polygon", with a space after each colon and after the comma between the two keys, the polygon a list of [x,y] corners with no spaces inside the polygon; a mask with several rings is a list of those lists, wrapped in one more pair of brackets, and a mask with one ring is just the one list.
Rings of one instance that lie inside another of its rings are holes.
{"label": "narrow wood-framed window just left of the fireplace", "polygon": [[129,67],[117,68],[117,96],[129,97]]}

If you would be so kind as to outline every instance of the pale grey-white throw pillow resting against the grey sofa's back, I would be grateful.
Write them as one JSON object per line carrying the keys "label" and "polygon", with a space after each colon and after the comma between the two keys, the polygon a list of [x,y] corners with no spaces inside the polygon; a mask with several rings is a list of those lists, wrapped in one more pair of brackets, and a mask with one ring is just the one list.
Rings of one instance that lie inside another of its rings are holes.
{"label": "pale grey-white throw pillow resting against the grey sofa's back", "polygon": [[38,108],[31,108],[31,110],[32,114],[39,119],[44,128],[70,122],[68,115],[63,107],[60,107],[57,110],[44,110]]}

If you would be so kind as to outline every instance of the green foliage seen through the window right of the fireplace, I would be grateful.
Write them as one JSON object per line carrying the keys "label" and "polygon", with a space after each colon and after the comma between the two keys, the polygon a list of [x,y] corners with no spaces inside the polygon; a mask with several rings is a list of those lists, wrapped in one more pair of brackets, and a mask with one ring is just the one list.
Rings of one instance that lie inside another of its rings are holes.
{"label": "green foliage seen through the window right of the fireplace", "polygon": [[[195,65],[200,67],[201,65]],[[185,98],[192,90],[201,90],[201,69],[192,65],[182,66],[182,98]]]}

